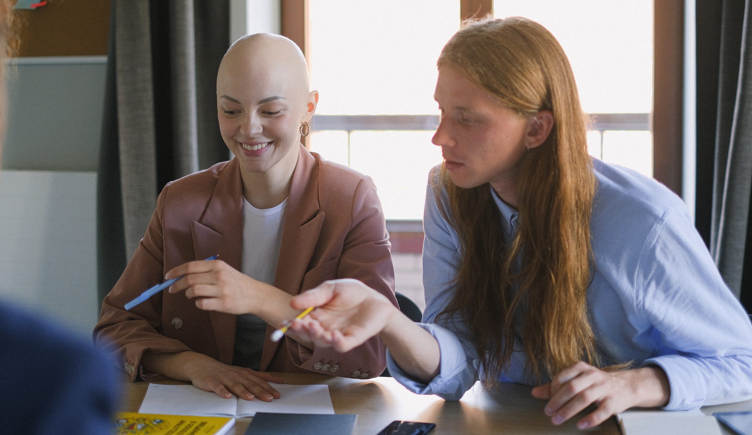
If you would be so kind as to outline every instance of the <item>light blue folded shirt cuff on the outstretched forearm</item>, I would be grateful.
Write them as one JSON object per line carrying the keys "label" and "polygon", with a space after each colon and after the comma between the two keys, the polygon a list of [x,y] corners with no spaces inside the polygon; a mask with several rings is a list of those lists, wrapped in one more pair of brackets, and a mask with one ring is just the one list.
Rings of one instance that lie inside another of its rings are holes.
{"label": "light blue folded shirt cuff on the outstretched forearm", "polygon": [[[416,325],[428,331],[438,342],[441,355],[439,373],[428,384],[413,380],[397,365],[397,362],[387,350],[389,373],[406,389],[418,395],[439,395],[447,401],[459,401],[462,395],[475,383],[475,372],[470,376],[472,380],[465,379],[468,378],[468,373],[462,376],[462,372],[469,369],[462,343],[452,332],[434,323],[416,323]],[[469,385],[463,385],[465,383],[469,383]]]}

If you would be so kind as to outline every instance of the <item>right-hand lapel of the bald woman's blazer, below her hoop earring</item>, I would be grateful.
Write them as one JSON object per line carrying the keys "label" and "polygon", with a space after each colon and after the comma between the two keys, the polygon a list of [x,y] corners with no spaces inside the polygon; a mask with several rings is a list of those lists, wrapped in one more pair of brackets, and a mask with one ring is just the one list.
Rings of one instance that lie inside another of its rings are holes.
{"label": "right-hand lapel of the bald woman's blazer, below her hoop earring", "polygon": [[[324,213],[319,212],[318,174],[316,159],[301,145],[290,182],[290,199],[287,200],[280,256],[274,277],[274,287],[293,296],[300,292],[303,276],[308,271],[308,263],[313,257],[324,221]],[[261,356],[262,371],[271,363],[281,343],[274,343],[269,338],[275,327],[276,325],[266,328]]]}

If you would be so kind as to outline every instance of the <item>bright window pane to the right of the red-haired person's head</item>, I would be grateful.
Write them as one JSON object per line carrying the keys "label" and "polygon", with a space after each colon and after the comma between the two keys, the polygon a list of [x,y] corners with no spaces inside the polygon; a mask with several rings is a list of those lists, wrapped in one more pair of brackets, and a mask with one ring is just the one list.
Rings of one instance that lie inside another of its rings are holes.
{"label": "bright window pane to the right of the red-haired person's head", "polygon": [[495,17],[526,17],[561,43],[582,108],[595,123],[590,154],[653,176],[653,1],[494,0]]}

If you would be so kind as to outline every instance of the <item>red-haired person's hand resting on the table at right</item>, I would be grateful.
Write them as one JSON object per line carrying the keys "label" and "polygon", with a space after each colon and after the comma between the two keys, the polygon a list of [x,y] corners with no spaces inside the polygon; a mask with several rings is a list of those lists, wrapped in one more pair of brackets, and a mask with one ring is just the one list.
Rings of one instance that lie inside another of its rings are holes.
{"label": "red-haired person's hand resting on the table at right", "polygon": [[532,389],[532,395],[550,399],[544,413],[554,425],[596,404],[595,411],[577,422],[578,428],[586,429],[631,407],[663,407],[669,403],[670,389],[669,378],[658,367],[609,372],[578,362],[561,371],[550,383]]}

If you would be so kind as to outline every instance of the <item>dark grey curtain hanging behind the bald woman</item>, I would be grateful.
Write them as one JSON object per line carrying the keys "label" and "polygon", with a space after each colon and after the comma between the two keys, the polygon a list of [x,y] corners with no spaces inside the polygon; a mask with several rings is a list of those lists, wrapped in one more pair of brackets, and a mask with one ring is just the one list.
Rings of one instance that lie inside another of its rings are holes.
{"label": "dark grey curtain hanging behind the bald woman", "polygon": [[99,300],[120,278],[171,180],[227,160],[217,68],[229,0],[114,0],[97,183]]}

